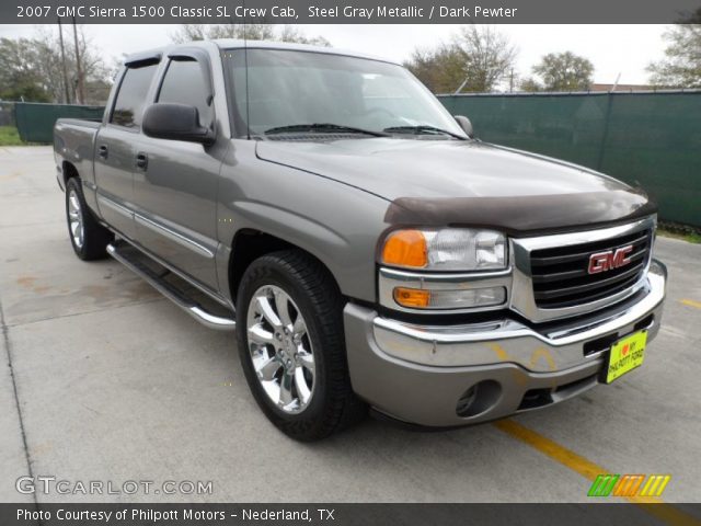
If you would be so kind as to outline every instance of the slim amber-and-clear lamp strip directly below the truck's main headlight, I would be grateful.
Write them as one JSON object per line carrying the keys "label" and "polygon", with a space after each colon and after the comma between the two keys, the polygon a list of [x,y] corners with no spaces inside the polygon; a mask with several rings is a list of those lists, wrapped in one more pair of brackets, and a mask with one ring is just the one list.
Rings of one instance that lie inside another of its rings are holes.
{"label": "slim amber-and-clear lamp strip directly below the truck's main headlight", "polygon": [[493,307],[506,301],[505,287],[468,288],[459,290],[427,290],[397,287],[394,301],[402,307],[420,309],[464,309]]}

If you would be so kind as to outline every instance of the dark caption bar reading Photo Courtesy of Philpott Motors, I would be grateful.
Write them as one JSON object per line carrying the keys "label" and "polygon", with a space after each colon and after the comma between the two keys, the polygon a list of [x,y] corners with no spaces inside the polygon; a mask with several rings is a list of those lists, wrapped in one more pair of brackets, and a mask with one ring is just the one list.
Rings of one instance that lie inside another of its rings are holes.
{"label": "dark caption bar reading Photo Courtesy of Philpott Motors", "polygon": [[652,526],[700,517],[700,504],[0,504],[2,526]]}

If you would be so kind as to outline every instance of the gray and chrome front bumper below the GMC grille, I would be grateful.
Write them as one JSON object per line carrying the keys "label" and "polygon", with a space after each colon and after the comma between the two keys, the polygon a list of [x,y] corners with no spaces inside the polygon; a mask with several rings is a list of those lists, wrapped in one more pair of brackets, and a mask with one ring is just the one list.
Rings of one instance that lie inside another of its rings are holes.
{"label": "gray and chrome front bumper below the GMC grille", "polygon": [[[643,329],[648,342],[657,334],[666,279],[665,266],[654,261],[635,296],[589,316],[539,325],[506,318],[417,325],[348,304],[344,321],[353,388],[378,411],[428,426],[493,420],[560,402],[598,382],[613,341]],[[466,393],[472,409],[466,410]]]}

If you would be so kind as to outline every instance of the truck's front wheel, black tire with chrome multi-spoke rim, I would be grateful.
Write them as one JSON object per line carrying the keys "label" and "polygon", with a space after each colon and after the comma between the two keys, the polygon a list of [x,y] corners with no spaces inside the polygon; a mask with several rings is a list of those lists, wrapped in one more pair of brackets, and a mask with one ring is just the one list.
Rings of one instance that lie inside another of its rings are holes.
{"label": "truck's front wheel, black tire with chrome multi-spoke rim", "polygon": [[241,364],[273,424],[308,442],[363,419],[348,377],[343,298],[325,267],[299,251],[262,256],[245,271],[237,307]]}

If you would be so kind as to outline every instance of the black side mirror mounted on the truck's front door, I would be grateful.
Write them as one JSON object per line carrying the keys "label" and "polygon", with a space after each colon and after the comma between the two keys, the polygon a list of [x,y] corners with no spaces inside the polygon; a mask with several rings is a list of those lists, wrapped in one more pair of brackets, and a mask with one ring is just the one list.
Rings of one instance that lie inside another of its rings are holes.
{"label": "black side mirror mounted on the truck's front door", "polygon": [[141,129],[157,139],[186,140],[211,145],[215,134],[199,125],[199,112],[195,106],[157,102],[143,112]]}

